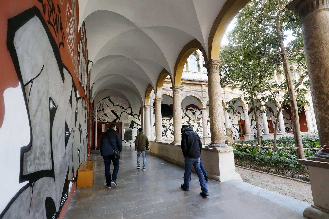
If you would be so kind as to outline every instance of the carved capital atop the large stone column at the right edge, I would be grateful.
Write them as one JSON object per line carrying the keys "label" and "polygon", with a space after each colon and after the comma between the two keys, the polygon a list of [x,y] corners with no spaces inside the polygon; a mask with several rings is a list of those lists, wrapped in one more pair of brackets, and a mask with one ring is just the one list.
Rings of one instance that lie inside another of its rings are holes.
{"label": "carved capital atop the large stone column at the right edge", "polygon": [[[322,4],[323,3],[323,4]],[[294,0],[286,6],[288,9],[298,14],[300,20],[312,13],[313,11],[321,11],[322,9],[329,9],[328,1],[318,0]]]}

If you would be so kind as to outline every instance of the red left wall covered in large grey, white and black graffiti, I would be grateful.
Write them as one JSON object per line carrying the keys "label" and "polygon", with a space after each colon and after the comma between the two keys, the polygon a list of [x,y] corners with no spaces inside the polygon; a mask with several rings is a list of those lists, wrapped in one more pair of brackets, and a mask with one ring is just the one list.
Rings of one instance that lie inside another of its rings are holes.
{"label": "red left wall covered in large grey, white and black graffiti", "polygon": [[0,218],[57,218],[88,154],[87,39],[77,0],[2,2]]}

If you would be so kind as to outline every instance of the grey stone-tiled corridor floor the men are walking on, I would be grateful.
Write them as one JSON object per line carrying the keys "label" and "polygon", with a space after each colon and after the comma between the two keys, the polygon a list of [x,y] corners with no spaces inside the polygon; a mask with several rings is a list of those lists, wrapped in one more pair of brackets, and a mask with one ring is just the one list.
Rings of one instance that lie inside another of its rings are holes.
{"label": "grey stone-tiled corridor floor the men are walking on", "polygon": [[183,191],[184,168],[146,154],[146,170],[137,169],[133,149],[121,153],[118,186],[110,189],[102,157],[91,155],[93,186],[76,189],[64,218],[293,219],[304,218],[301,212],[309,205],[247,183],[212,179],[207,183],[210,196],[202,198],[194,172],[190,190]]}

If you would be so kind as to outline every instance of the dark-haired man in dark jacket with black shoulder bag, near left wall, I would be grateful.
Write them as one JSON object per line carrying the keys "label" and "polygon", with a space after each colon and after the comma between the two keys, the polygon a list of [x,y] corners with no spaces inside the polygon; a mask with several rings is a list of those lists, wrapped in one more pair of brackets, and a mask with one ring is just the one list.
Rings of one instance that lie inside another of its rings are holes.
{"label": "dark-haired man in dark jacket with black shoulder bag, near left wall", "polygon": [[[103,134],[100,147],[101,156],[104,159],[106,187],[117,186],[116,175],[119,172],[119,161],[114,160],[114,152],[122,151],[122,141],[116,126],[111,124],[106,133]],[[114,150],[113,150],[114,149]],[[113,162],[113,173],[111,181],[111,161]]]}

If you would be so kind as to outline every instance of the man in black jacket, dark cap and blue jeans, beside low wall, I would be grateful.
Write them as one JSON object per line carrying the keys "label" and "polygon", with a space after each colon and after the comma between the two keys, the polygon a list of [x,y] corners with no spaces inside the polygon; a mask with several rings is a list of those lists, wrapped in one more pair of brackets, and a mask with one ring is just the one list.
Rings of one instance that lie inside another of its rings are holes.
{"label": "man in black jacket, dark cap and blue jeans, beside low wall", "polygon": [[206,179],[200,168],[200,155],[202,149],[202,143],[199,135],[193,132],[187,125],[182,125],[182,142],[181,148],[185,157],[185,173],[184,173],[184,184],[181,184],[181,188],[189,190],[190,184],[190,173],[192,165],[194,166],[195,172],[199,177],[202,197],[209,196]]}

